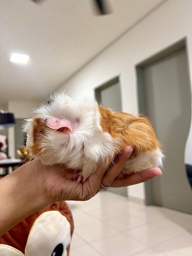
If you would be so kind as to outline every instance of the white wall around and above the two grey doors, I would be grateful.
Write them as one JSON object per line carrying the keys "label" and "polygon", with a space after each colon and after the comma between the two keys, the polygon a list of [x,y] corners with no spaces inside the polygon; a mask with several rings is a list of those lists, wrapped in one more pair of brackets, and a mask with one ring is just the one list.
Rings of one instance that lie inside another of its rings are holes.
{"label": "white wall around and above the two grey doors", "polygon": [[[94,94],[94,88],[119,75],[123,111],[137,113],[135,66],[184,37],[187,38],[192,77],[192,1],[168,0],[80,70],[62,88],[74,98],[82,92]],[[192,138],[192,132],[189,137]],[[144,185],[130,186],[129,195],[143,199]]]}

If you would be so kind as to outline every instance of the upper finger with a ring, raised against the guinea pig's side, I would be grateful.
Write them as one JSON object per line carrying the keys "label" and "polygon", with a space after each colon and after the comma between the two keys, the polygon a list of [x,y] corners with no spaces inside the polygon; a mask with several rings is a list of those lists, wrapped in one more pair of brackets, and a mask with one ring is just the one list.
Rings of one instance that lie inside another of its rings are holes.
{"label": "upper finger with a ring, raised against the guinea pig's side", "polygon": [[[126,164],[132,151],[133,149],[131,147],[126,147],[126,150],[123,152],[123,154],[118,158],[114,165],[104,174],[101,181],[104,186],[110,186],[113,180],[120,174],[122,168]],[[100,190],[102,190],[102,188],[99,188],[98,192]]]}

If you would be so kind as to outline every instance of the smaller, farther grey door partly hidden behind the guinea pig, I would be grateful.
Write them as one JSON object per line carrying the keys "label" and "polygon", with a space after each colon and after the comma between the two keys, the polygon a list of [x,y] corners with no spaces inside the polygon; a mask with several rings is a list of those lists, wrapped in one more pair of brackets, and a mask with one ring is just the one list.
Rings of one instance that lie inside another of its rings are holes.
{"label": "smaller, farther grey door partly hidden behind the guinea pig", "polygon": [[[104,108],[110,108],[112,111],[121,112],[121,89],[119,82],[112,85],[105,85],[103,89],[98,90],[98,98]],[[127,196],[127,188],[108,188],[109,191]]]}

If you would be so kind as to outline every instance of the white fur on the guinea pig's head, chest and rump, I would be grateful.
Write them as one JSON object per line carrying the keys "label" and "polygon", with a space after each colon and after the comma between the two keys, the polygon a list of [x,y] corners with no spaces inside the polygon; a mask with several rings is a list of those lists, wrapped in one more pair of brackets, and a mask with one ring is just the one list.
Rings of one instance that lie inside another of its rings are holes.
{"label": "white fur on the guinea pig's head, chest and rump", "polygon": [[[67,168],[81,170],[84,178],[88,178],[101,164],[107,168],[110,159],[114,159],[117,152],[118,139],[104,132],[100,125],[100,111],[97,102],[90,97],[82,97],[72,100],[64,93],[52,96],[36,111],[36,117],[43,120],[54,117],[68,120],[72,126],[78,122],[78,126],[70,134],[63,134],[52,129],[46,130],[46,136],[42,136],[42,148],[46,148],[43,154],[34,157],[46,165],[64,164]],[[35,120],[26,122],[25,132],[28,135],[27,147],[30,150],[34,144],[33,126]],[[163,154],[160,150],[143,153],[134,160],[128,160],[125,168],[128,172],[139,172],[152,166],[162,164]]]}

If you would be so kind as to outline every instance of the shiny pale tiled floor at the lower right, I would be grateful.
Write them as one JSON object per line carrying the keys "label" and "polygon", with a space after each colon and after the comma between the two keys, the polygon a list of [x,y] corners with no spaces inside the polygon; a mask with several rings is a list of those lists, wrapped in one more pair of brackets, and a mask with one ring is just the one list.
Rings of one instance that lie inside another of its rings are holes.
{"label": "shiny pale tiled floor at the lower right", "polygon": [[192,215],[144,206],[112,192],[68,202],[70,256],[192,256]]}

